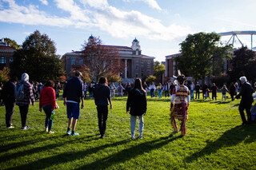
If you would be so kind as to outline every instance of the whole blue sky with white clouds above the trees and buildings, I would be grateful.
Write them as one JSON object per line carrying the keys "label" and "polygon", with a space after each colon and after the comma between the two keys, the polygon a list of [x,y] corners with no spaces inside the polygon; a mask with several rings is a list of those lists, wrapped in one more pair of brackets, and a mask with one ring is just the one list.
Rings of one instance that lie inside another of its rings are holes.
{"label": "whole blue sky with white clouds above the trees and buildings", "polygon": [[[143,54],[165,61],[187,34],[256,30],[255,7],[255,0],[0,0],[0,38],[22,44],[39,30],[60,55],[80,50],[90,34],[106,45],[137,38]],[[250,47],[249,35],[238,37]]]}

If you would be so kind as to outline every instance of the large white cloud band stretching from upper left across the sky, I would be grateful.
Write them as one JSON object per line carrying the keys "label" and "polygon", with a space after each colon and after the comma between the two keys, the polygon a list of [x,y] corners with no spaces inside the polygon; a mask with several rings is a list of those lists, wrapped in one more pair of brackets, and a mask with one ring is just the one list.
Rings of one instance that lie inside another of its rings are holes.
{"label": "large white cloud band stretching from upper left across the sky", "polygon": [[138,11],[118,10],[106,0],[54,0],[56,6],[68,12],[70,17],[58,17],[38,10],[37,6],[18,6],[14,0],[2,0],[9,8],[0,10],[0,22],[22,23],[26,25],[73,26],[75,28],[99,28],[116,38],[149,38],[174,40],[191,33],[190,27],[171,24],[164,26],[156,18]]}

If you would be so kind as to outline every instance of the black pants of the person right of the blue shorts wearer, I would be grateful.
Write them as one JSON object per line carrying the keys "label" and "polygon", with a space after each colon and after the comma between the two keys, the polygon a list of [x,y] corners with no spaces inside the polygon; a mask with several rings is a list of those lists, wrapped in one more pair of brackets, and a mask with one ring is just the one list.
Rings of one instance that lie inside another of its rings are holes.
{"label": "black pants of the person right of the blue shorts wearer", "polygon": [[108,115],[107,105],[97,105],[98,112],[98,129],[101,135],[105,135],[106,120]]}

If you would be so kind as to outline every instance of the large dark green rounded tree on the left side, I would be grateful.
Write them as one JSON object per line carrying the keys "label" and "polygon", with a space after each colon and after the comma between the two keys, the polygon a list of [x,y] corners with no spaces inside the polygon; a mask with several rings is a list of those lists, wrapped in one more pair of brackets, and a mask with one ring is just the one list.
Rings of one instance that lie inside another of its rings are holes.
{"label": "large dark green rounded tree on the left side", "polygon": [[30,80],[34,81],[60,80],[64,74],[54,42],[38,30],[30,34],[23,42],[22,49],[14,53],[10,70],[17,77],[28,73]]}

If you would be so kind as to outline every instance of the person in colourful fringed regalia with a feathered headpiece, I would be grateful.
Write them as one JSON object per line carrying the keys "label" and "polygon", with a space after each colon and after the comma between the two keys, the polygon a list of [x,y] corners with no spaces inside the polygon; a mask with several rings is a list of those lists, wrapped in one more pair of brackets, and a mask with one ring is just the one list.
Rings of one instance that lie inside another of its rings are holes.
{"label": "person in colourful fringed regalia with a feathered headpiece", "polygon": [[[184,85],[185,76],[177,77],[178,85],[175,86],[170,101],[170,123],[174,128],[173,133],[178,132],[175,118],[182,121],[180,131],[182,136],[186,135],[187,109],[190,105],[190,90]],[[175,101],[175,103],[174,103]]]}

